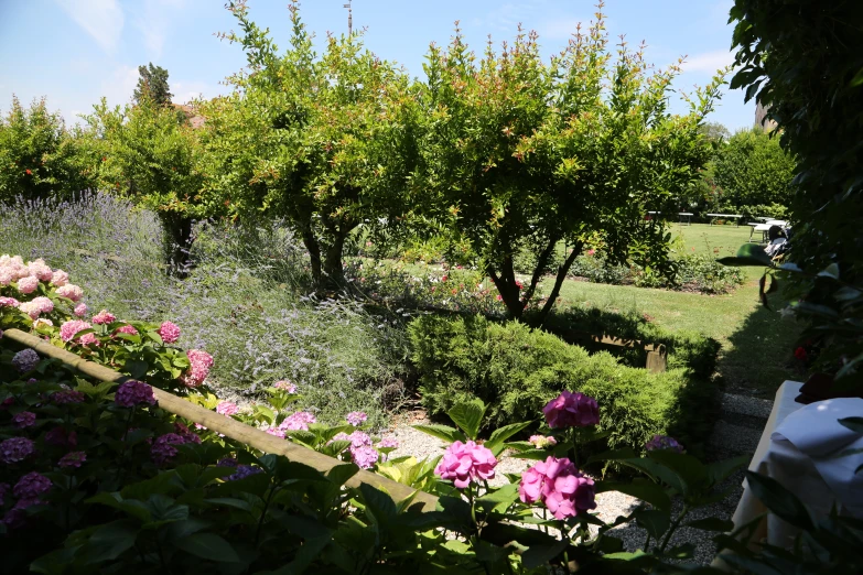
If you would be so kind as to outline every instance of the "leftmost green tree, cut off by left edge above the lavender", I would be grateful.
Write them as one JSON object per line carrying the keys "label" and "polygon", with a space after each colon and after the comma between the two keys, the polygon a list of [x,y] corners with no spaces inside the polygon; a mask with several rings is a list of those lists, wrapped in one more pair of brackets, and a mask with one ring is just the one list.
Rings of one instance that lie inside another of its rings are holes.
{"label": "leftmost green tree, cut off by left edge above the lavender", "polygon": [[47,109],[45,99],[24,108],[18,98],[0,118],[0,200],[69,196],[95,184],[77,129]]}

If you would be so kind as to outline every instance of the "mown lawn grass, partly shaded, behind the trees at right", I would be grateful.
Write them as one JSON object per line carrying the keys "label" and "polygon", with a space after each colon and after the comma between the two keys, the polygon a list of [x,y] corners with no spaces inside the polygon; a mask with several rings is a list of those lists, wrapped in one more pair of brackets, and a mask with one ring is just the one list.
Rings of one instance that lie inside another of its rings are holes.
{"label": "mown lawn grass, partly shaded, behind the trees at right", "polygon": [[[672,232],[682,236],[687,250],[714,252],[718,258],[733,254],[749,238],[748,226],[673,225]],[[716,369],[726,391],[773,397],[786,379],[806,377],[792,357],[800,327],[760,305],[757,281],[763,270],[745,270],[746,283],[726,295],[567,280],[558,308],[576,305],[636,312],[671,330],[691,329],[713,337],[722,344]],[[546,280],[543,286],[548,293],[551,280]],[[780,296],[772,296],[774,310],[784,305]]]}

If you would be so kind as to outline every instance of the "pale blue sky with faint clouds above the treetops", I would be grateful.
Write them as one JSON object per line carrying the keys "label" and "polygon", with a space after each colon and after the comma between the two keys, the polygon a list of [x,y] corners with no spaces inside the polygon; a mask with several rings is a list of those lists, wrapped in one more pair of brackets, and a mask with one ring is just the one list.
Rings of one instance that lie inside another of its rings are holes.
{"label": "pale blue sky with faint clouds above the treetops", "polygon": [[[306,0],[301,13],[322,41],[327,31],[347,30],[347,0]],[[285,45],[287,0],[249,0],[252,19]],[[676,87],[691,91],[716,68],[733,62],[729,52],[732,0],[607,0],[612,36],[632,45],[646,41],[647,59],[665,67],[688,56]],[[366,45],[380,57],[422,75],[429,43],[449,42],[455,20],[477,52],[486,36],[511,39],[519,22],[540,34],[548,55],[560,51],[578,22],[595,12],[593,0],[354,0],[354,26],[366,28]],[[46,96],[67,121],[87,112],[103,96],[129,101],[138,65],[152,62],[170,73],[174,101],[209,98],[228,90],[222,80],[242,67],[238,45],[214,33],[236,29],[223,0],[0,0],[0,110],[12,94],[29,102]],[[678,108],[681,109],[681,108]],[[710,118],[732,131],[753,124],[755,107],[740,90],[726,91]]]}

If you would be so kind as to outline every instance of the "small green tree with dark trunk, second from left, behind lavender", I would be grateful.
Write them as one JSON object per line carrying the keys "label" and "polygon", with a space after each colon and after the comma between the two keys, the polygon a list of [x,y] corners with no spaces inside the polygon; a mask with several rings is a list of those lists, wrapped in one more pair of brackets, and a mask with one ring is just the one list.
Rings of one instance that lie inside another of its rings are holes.
{"label": "small green tree with dark trunk, second from left, behind lavender", "polygon": [[195,130],[151,100],[111,109],[103,99],[86,120],[103,156],[101,186],[154,210],[168,234],[166,259],[182,267],[192,223],[208,214]]}

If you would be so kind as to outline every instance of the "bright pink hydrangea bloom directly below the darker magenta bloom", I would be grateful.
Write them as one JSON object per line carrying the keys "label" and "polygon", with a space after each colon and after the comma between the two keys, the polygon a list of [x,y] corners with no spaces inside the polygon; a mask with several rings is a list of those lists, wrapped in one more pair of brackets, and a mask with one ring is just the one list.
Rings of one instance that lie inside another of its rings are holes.
{"label": "bright pink hydrangea bloom directly below the darker magenta bloom", "polygon": [[555,519],[567,519],[596,508],[593,479],[568,458],[548,457],[521,474],[521,501],[542,501]]}

